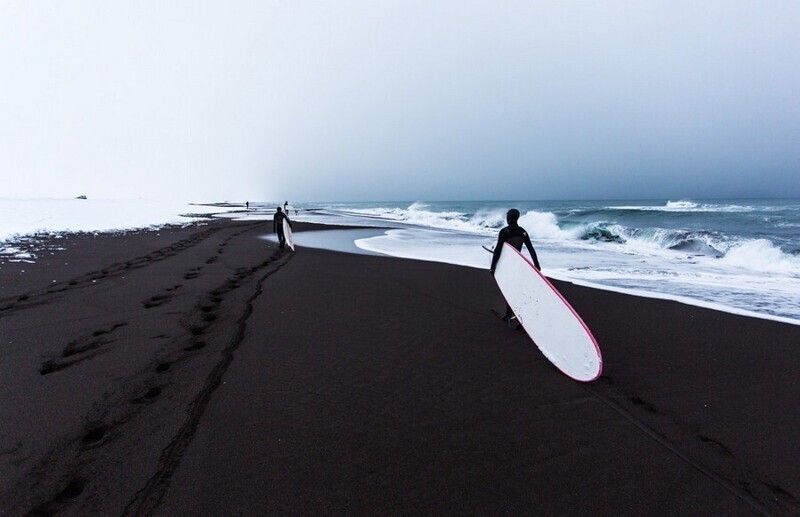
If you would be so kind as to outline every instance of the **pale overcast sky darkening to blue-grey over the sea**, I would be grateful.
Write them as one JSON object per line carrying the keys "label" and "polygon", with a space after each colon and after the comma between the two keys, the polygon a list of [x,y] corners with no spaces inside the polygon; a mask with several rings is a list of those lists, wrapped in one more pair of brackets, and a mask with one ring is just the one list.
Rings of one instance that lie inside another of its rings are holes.
{"label": "pale overcast sky darkening to blue-grey over the sea", "polygon": [[800,2],[0,0],[0,197],[800,197]]}

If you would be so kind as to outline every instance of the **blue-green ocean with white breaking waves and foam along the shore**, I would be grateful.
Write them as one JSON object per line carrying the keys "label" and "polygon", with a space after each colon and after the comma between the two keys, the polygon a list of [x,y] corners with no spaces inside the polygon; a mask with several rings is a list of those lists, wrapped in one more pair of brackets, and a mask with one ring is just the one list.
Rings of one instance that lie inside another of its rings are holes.
{"label": "blue-green ocean with white breaking waves and foam along the shore", "polygon": [[355,245],[488,269],[482,246],[511,207],[548,276],[800,324],[798,199],[308,203],[295,217],[389,227]]}

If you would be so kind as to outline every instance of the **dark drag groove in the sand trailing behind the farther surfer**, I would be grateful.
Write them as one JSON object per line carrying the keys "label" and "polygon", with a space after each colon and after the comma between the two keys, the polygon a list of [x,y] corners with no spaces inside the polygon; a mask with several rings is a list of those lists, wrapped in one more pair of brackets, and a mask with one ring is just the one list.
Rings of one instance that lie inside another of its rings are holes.
{"label": "dark drag groove in the sand trailing behind the farther surfer", "polygon": [[[275,255],[278,256],[276,257]],[[169,445],[167,445],[161,453],[158,470],[153,474],[144,488],[134,495],[133,500],[131,500],[123,510],[123,515],[151,515],[161,503],[161,499],[163,499],[169,488],[169,481],[177,470],[178,463],[180,463],[183,453],[194,438],[197,426],[200,424],[200,419],[203,413],[205,413],[208,403],[211,401],[211,395],[217,390],[222,382],[223,375],[225,375],[225,371],[233,362],[233,353],[239,348],[242,341],[244,341],[247,320],[250,318],[250,315],[253,314],[253,302],[255,302],[264,291],[264,281],[280,271],[280,269],[294,257],[294,253],[276,253],[275,255],[273,255],[271,260],[268,259],[261,264],[260,267],[266,267],[267,271],[258,279],[253,294],[250,295],[245,302],[242,315],[236,320],[237,328],[228,341],[228,345],[222,350],[222,359],[214,366],[211,373],[208,374],[208,377],[206,377],[202,389],[189,407],[189,416],[186,418],[186,421],[184,421],[175,437],[172,438]]]}

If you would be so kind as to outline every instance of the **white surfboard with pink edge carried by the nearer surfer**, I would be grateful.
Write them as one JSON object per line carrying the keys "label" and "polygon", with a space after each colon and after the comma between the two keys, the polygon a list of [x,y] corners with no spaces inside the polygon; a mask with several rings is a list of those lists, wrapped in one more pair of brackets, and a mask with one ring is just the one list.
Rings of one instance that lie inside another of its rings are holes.
{"label": "white surfboard with pink edge carried by the nearer surfer", "polygon": [[590,382],[603,372],[603,357],[589,328],[519,251],[505,243],[494,278],[525,332],[565,375]]}

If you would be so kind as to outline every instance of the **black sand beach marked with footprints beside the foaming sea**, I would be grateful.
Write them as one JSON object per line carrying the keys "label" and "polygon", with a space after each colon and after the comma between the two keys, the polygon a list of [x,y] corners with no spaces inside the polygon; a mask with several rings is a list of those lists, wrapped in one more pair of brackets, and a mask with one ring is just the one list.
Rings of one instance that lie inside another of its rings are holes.
{"label": "black sand beach marked with footprints beside the foaming sea", "polygon": [[555,282],[581,384],[485,270],[270,229],[0,265],[0,514],[800,513],[800,326]]}

